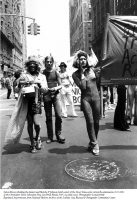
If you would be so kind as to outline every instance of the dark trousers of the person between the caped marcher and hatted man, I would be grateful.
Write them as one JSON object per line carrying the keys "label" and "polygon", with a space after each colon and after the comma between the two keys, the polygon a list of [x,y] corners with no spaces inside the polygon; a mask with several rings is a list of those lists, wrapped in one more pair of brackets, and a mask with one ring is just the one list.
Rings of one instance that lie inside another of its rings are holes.
{"label": "dark trousers of the person between the caped marcher and hatted man", "polygon": [[61,104],[59,94],[54,97],[44,97],[44,110],[46,115],[47,135],[49,139],[53,139],[53,120],[52,120],[52,105],[55,111],[55,134],[58,137],[62,130],[62,118],[61,118]]}

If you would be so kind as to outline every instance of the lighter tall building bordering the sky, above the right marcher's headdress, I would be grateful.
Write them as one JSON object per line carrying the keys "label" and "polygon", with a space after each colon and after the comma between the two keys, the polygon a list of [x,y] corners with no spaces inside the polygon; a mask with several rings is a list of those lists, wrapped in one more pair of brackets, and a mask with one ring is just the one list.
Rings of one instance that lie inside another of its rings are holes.
{"label": "lighter tall building bordering the sky, above the right marcher's headdress", "polygon": [[70,55],[81,49],[90,52],[92,21],[90,0],[69,1]]}

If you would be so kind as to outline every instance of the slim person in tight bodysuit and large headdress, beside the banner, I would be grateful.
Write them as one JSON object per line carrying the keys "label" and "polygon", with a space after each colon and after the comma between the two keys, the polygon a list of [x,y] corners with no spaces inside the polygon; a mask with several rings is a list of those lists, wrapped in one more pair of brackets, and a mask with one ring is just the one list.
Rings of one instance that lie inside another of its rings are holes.
{"label": "slim person in tight bodysuit and large headdress, beside the banner", "polygon": [[91,151],[93,155],[99,155],[97,137],[100,119],[100,96],[96,85],[95,73],[92,66],[88,63],[88,54],[80,50],[76,54],[73,67],[78,68],[78,70],[72,74],[72,78],[81,90],[81,106],[90,140],[88,150]]}

